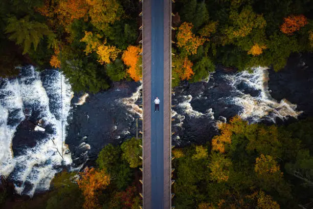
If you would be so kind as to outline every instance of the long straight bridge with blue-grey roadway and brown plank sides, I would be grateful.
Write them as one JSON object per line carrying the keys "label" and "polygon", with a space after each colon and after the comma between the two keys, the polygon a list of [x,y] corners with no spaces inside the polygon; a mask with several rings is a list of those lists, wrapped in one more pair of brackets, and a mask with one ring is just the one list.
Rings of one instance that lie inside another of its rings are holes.
{"label": "long straight bridge with blue-grey roadway and brown plank sides", "polygon": [[143,208],[171,208],[171,0],[143,0],[141,14]]}

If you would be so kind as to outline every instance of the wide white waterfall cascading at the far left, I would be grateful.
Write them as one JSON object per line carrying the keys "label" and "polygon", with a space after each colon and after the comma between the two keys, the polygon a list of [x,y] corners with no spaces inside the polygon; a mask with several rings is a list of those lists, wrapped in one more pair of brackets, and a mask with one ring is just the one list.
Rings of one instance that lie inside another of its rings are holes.
{"label": "wide white waterfall cascading at the far left", "polygon": [[[14,180],[18,194],[48,190],[61,165],[72,163],[64,144],[72,95],[69,82],[56,70],[39,73],[29,66],[21,68],[18,78],[0,79],[0,174]],[[31,145],[13,138],[25,119],[44,130]]]}

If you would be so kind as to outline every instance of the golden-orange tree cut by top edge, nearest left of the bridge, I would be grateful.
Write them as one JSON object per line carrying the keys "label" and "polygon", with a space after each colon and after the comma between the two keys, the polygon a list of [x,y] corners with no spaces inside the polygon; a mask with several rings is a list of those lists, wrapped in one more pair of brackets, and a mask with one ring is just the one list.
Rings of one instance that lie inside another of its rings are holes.
{"label": "golden-orange tree cut by top edge, nearest left of the bridge", "polygon": [[123,14],[123,8],[115,0],[86,0],[86,3],[90,7],[91,23],[98,30],[105,30],[108,24],[114,24]]}

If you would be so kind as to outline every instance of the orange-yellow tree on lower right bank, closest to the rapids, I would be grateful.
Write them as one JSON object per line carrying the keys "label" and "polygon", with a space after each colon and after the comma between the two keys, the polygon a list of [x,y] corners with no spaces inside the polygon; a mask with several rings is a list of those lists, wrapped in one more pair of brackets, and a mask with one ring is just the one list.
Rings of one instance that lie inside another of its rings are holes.
{"label": "orange-yellow tree on lower right bank, closest to the rapids", "polygon": [[242,121],[239,116],[233,117],[229,123],[221,123],[218,125],[218,129],[221,135],[214,136],[212,139],[212,150],[224,153],[225,144],[232,142],[231,136],[233,133],[242,132],[242,126],[247,126],[247,122]]}

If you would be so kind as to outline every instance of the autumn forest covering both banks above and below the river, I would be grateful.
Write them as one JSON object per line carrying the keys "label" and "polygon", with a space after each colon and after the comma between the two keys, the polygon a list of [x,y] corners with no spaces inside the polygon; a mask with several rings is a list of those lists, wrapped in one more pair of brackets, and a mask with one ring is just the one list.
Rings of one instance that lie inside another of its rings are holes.
{"label": "autumn forest covering both banks above and below the river", "polygon": [[[197,82],[216,65],[283,70],[292,53],[313,50],[311,0],[177,0],[173,4],[172,86]],[[141,3],[135,0],[0,1],[0,76],[17,66],[59,69],[74,92],[140,81]],[[176,208],[312,208],[313,120],[285,126],[219,124],[206,144],[175,148]],[[34,198],[0,187],[12,208],[138,208],[140,139],[107,144],[95,165],[61,172]]]}

